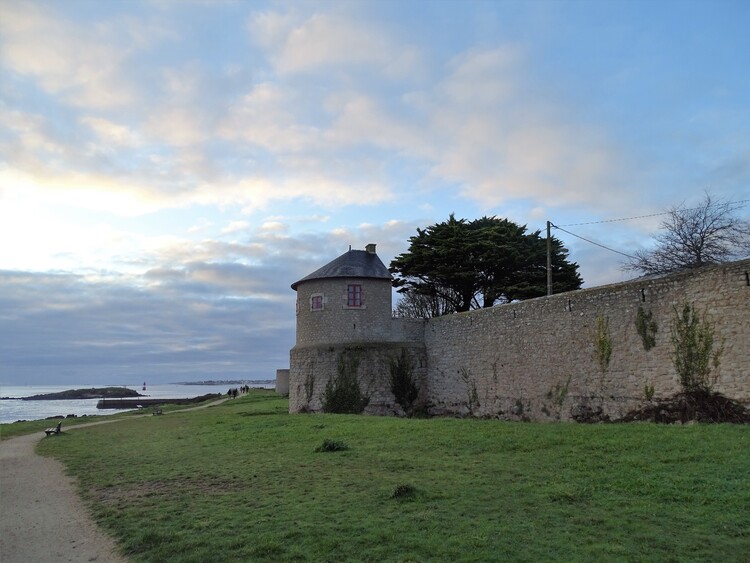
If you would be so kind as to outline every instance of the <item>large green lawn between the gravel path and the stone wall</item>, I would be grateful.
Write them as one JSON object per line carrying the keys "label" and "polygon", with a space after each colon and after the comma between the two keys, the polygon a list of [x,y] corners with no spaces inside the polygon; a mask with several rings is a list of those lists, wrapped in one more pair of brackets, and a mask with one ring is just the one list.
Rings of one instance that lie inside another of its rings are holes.
{"label": "large green lawn between the gravel path and the stone wall", "polygon": [[253,391],[39,450],[134,561],[748,561],[747,426],[285,410]]}

